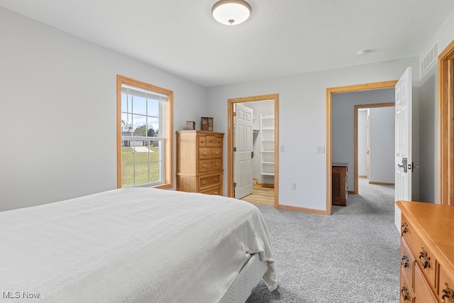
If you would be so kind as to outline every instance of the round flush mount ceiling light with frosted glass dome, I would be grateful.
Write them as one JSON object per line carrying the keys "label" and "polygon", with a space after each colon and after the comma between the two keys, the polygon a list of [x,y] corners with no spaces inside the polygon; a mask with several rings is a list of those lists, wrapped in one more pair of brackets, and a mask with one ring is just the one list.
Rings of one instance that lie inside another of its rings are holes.
{"label": "round flush mount ceiling light with frosted glass dome", "polygon": [[211,9],[216,21],[227,26],[243,23],[249,18],[250,11],[250,5],[243,0],[217,1]]}

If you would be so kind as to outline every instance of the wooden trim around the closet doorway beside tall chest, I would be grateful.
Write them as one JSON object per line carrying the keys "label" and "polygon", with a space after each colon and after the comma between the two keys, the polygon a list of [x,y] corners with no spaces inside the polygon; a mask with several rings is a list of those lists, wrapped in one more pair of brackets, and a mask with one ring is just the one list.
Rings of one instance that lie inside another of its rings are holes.
{"label": "wooden trim around the closet doorway beside tall chest", "polygon": [[261,96],[242,97],[227,100],[227,196],[234,197],[233,188],[233,110],[234,104],[274,100],[275,102],[275,208],[279,206],[279,94],[265,94]]}

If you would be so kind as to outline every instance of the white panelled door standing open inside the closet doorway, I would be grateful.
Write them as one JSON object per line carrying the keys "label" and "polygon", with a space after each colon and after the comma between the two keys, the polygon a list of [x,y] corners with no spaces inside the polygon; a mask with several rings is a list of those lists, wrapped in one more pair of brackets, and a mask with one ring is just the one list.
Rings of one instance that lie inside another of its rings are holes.
{"label": "white panelled door standing open inside the closet doorway", "polygon": [[237,103],[235,112],[233,182],[235,198],[241,199],[253,193],[253,109]]}

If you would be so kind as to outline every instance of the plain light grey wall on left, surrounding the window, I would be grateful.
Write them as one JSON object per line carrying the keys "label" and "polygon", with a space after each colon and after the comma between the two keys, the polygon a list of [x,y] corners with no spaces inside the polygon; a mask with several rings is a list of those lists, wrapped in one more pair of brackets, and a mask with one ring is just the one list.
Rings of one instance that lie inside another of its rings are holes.
{"label": "plain light grey wall on left, surrounding the window", "polygon": [[[206,88],[0,8],[0,211],[116,188],[116,75],[174,91],[174,130]],[[175,174],[174,174],[175,175]]]}

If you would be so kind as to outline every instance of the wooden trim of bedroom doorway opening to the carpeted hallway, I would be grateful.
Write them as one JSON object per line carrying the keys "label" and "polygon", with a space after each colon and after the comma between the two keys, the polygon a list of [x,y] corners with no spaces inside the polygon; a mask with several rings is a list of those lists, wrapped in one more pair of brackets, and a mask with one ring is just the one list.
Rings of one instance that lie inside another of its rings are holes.
{"label": "wooden trim of bedroom doorway opening to the carpeted hallway", "polygon": [[341,93],[341,92],[358,92],[362,90],[370,90],[370,89],[384,89],[389,87],[395,87],[397,80],[393,81],[384,81],[384,82],[374,82],[374,83],[367,83],[367,84],[355,84],[349,85],[345,87],[331,87],[326,89],[326,214],[332,214],[332,183],[331,183],[331,175],[332,175],[332,167],[331,167],[331,127],[332,127],[332,102],[333,102],[333,94]]}

